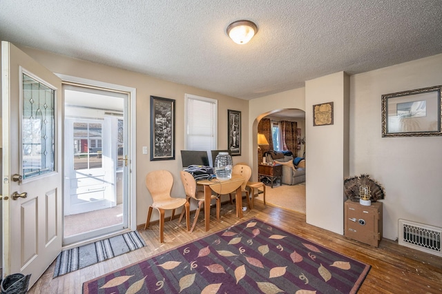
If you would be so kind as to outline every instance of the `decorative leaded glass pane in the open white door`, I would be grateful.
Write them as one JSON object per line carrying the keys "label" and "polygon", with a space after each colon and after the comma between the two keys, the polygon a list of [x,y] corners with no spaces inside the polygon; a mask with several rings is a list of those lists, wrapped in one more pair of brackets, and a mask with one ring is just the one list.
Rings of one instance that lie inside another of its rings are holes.
{"label": "decorative leaded glass pane in the open white door", "polygon": [[23,74],[23,179],[55,170],[55,90]]}

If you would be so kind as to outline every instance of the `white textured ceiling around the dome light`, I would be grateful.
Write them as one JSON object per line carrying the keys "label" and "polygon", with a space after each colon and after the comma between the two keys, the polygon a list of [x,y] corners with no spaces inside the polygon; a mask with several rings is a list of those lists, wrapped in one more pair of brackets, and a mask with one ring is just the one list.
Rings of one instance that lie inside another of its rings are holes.
{"label": "white textured ceiling around the dome light", "polygon": [[[441,0],[0,0],[0,39],[253,99],[442,52]],[[249,19],[246,45],[227,36]]]}

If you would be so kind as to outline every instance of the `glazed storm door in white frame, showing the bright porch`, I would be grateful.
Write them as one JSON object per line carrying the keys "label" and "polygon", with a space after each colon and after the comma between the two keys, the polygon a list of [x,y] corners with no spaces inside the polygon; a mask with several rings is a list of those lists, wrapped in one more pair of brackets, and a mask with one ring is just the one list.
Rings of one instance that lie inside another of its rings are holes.
{"label": "glazed storm door in white frame, showing the bright porch", "polygon": [[127,92],[64,86],[64,246],[128,228]]}

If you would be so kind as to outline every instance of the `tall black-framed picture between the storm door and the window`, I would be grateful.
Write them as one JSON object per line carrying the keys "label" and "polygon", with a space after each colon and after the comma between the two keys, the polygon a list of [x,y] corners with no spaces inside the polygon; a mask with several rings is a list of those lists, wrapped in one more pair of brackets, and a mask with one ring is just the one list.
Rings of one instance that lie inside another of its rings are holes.
{"label": "tall black-framed picture between the storm door and the window", "polygon": [[151,161],[175,159],[175,100],[151,96]]}

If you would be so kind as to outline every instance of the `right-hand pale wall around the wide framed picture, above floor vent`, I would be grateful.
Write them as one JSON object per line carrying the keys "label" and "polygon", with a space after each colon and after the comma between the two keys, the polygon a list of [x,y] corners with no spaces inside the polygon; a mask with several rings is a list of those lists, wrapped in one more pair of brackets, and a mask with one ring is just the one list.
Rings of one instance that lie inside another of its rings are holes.
{"label": "right-hand pale wall around the wide framed picture, above floor vent", "polygon": [[442,227],[442,137],[382,137],[381,95],[442,85],[442,55],[350,78],[350,175],[383,184],[383,235],[398,219]]}

